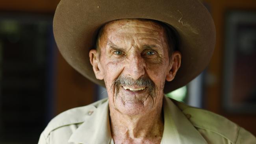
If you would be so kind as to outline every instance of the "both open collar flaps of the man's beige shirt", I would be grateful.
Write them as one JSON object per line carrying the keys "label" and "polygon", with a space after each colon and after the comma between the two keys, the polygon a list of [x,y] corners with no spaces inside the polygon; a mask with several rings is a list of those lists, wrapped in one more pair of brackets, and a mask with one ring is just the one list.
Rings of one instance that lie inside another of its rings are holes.
{"label": "both open collar flaps of the man's beige shirt", "polygon": [[[170,98],[163,98],[164,130],[161,144],[207,144],[197,129]],[[74,131],[69,142],[80,144],[109,144],[108,101],[100,105],[85,122]]]}

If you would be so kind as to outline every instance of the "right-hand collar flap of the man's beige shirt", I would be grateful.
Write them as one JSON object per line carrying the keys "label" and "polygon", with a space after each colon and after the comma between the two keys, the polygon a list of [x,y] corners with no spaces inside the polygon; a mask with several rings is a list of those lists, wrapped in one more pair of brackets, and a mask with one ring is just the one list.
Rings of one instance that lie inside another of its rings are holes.
{"label": "right-hand collar flap of the man's beige shirt", "polygon": [[161,144],[207,144],[170,98],[163,98],[164,130]]}

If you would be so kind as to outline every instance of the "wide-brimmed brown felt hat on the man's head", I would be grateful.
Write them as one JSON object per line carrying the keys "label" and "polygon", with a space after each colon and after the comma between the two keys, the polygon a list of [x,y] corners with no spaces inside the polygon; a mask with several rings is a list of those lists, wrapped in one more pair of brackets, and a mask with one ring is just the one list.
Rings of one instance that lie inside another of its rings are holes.
{"label": "wide-brimmed brown felt hat on the man's head", "polygon": [[98,85],[89,50],[101,26],[122,18],[146,18],[173,26],[179,35],[182,63],[176,77],[165,83],[170,92],[189,83],[208,65],[215,46],[215,26],[198,0],[61,0],[53,21],[54,37],[67,62]]}

